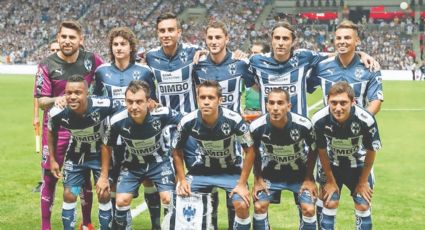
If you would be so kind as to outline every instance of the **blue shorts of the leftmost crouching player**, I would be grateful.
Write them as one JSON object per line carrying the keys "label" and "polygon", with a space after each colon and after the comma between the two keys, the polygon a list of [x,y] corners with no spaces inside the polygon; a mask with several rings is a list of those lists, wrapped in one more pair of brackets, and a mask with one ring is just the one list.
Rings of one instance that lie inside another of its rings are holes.
{"label": "blue shorts of the leftmost crouching player", "polygon": [[85,161],[82,164],[65,161],[63,165],[64,187],[82,187],[86,180],[90,180],[90,171],[93,172],[94,183],[96,184],[100,177],[100,164],[98,159]]}

